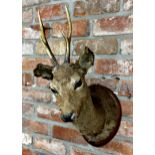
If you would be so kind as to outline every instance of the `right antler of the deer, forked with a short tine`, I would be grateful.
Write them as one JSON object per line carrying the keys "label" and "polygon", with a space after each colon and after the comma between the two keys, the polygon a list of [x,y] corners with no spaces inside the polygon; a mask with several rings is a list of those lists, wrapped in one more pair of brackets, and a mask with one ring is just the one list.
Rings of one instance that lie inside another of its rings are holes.
{"label": "right antler of the deer, forked with a short tine", "polygon": [[65,39],[66,43],[66,53],[65,53],[65,62],[70,63],[70,43],[71,43],[71,35],[72,35],[72,23],[71,23],[71,17],[68,10],[68,7],[65,5],[66,15],[67,15],[67,21],[68,21],[68,33],[67,36],[65,36],[63,33],[63,37]]}

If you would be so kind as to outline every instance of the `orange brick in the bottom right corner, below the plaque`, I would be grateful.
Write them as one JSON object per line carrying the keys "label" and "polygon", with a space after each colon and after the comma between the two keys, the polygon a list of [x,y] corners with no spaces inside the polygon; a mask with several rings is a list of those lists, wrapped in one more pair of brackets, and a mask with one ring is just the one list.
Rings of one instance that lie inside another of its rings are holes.
{"label": "orange brick in the bottom right corner, below the plaque", "polygon": [[114,152],[114,153],[119,153],[122,155],[132,155],[133,154],[133,147],[131,143],[128,142],[119,142],[112,140],[106,145],[102,147],[103,150],[108,151],[108,152]]}

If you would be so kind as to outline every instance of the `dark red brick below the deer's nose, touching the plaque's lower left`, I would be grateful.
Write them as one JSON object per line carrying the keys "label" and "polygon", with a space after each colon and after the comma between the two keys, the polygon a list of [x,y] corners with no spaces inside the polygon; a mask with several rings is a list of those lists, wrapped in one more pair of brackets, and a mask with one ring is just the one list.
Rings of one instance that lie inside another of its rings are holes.
{"label": "dark red brick below the deer's nose, touching the plaque's lower left", "polygon": [[70,128],[53,126],[53,137],[78,144],[87,144],[80,132]]}

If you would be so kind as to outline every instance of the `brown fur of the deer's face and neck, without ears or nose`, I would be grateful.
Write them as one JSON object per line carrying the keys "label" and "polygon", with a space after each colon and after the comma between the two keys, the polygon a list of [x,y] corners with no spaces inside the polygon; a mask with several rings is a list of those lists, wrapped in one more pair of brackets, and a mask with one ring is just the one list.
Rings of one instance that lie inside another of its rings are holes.
{"label": "brown fur of the deer's face and neck, without ears or nose", "polygon": [[[82,86],[79,90],[74,90],[74,84],[79,79],[82,80]],[[58,91],[56,97],[62,113],[76,113],[74,123],[83,134],[94,135],[101,132],[104,126],[104,111],[94,106],[80,66],[59,66],[53,71],[50,86]]]}

